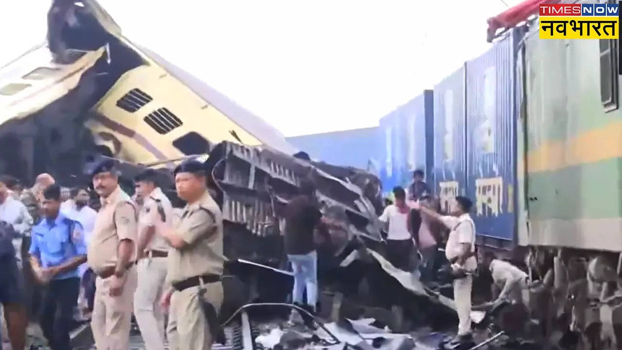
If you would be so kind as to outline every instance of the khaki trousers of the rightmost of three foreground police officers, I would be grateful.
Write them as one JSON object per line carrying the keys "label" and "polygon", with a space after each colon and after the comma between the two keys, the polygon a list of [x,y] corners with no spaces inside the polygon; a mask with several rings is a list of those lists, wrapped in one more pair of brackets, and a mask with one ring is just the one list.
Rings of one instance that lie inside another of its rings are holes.
{"label": "khaki trousers of the rightmost of three foreground police officers", "polygon": [[[223,303],[223,284],[208,283],[203,297],[220,311]],[[170,299],[167,336],[170,350],[211,350],[213,341],[200,296],[199,286],[175,291]]]}

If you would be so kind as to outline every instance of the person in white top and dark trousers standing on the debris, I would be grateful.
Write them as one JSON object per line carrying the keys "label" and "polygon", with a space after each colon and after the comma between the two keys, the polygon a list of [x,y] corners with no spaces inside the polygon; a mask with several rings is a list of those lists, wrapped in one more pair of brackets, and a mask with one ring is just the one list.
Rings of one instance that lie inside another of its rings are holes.
{"label": "person in white top and dark trousers standing on the debris", "polygon": [[387,230],[387,255],[389,262],[403,271],[410,271],[411,255],[414,249],[413,237],[408,229],[410,207],[406,205],[406,191],[400,186],[394,187],[395,204],[384,208],[378,218],[389,225]]}

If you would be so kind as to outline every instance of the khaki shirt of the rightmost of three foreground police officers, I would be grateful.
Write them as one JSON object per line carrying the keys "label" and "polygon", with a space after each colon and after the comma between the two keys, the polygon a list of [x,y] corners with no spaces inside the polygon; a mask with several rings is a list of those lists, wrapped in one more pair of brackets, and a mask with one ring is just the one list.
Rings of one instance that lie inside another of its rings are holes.
{"label": "khaki shirt of the rightmost of three foreground police officers", "polygon": [[207,191],[198,202],[184,208],[177,234],[188,246],[169,250],[169,283],[223,273],[223,215]]}

